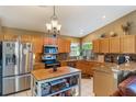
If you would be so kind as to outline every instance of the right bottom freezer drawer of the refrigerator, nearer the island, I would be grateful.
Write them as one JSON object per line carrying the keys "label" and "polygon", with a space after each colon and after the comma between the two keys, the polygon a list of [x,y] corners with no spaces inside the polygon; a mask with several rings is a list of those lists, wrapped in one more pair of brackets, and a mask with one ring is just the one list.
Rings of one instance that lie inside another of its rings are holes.
{"label": "right bottom freezer drawer of the refrigerator, nearer the island", "polygon": [[15,91],[22,91],[31,88],[31,75],[23,75],[16,77]]}

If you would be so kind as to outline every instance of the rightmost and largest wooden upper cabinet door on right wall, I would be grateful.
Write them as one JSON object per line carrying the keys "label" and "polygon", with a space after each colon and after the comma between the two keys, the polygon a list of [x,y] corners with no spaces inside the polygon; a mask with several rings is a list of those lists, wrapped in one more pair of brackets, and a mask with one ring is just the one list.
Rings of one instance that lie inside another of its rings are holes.
{"label": "rightmost and largest wooden upper cabinet door on right wall", "polygon": [[126,53],[126,54],[136,53],[136,36],[135,35],[121,36],[121,53]]}

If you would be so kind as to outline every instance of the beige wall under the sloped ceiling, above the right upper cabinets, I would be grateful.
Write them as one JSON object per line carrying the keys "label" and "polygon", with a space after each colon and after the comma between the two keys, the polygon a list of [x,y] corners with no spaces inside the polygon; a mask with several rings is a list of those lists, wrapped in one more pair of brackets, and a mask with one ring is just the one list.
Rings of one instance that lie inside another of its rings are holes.
{"label": "beige wall under the sloped ceiling, above the right upper cabinets", "polygon": [[136,11],[133,11],[131,13],[128,13],[127,15],[88,34],[87,36],[82,37],[82,42],[91,42],[95,38],[99,38],[101,34],[110,34],[110,32],[115,32],[117,35],[122,35],[123,31],[121,25],[126,23],[126,22],[131,22],[132,23],[132,27],[129,30],[129,34],[136,34]]}

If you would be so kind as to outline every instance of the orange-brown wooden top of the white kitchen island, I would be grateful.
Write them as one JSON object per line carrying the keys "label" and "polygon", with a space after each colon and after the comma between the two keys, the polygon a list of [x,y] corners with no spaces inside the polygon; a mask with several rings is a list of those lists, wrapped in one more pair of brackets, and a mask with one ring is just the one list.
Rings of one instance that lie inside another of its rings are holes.
{"label": "orange-brown wooden top of the white kitchen island", "polygon": [[31,73],[34,76],[34,78],[38,81],[41,80],[47,80],[73,72],[81,72],[79,69],[72,68],[72,67],[59,67],[57,71],[53,71],[53,68],[50,69],[38,69],[38,70],[33,70]]}

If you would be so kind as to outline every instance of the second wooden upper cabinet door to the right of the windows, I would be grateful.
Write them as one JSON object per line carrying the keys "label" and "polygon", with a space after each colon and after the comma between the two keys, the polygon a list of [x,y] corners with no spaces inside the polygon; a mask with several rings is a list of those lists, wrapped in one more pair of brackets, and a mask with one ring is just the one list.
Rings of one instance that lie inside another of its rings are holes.
{"label": "second wooden upper cabinet door to the right of the windows", "polygon": [[109,53],[109,38],[100,39],[100,53]]}

